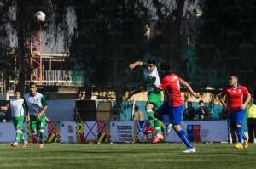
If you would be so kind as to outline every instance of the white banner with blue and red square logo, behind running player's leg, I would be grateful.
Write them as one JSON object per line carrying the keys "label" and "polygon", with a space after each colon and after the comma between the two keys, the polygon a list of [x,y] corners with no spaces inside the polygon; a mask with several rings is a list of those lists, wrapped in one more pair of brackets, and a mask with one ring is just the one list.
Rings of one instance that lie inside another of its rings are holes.
{"label": "white banner with blue and red square logo, behind running player's leg", "polygon": [[[227,142],[227,121],[183,121],[183,131],[193,142]],[[165,137],[166,142],[181,142],[177,133],[172,132]]]}

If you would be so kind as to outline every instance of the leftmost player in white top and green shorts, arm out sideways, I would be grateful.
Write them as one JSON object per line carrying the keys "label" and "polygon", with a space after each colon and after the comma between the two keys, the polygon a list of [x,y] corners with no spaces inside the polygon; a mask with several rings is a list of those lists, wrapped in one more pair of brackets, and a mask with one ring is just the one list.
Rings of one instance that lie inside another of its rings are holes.
{"label": "leftmost player in white top and green shorts, arm out sideways", "polygon": [[23,129],[23,121],[24,121],[24,99],[20,98],[20,91],[15,90],[15,99],[10,99],[9,104],[6,104],[3,107],[0,107],[1,110],[10,109],[11,115],[13,118],[15,130],[16,130],[16,138],[15,142],[11,144],[13,147],[18,147],[20,139],[23,144],[22,147],[27,146],[26,138],[22,132]]}

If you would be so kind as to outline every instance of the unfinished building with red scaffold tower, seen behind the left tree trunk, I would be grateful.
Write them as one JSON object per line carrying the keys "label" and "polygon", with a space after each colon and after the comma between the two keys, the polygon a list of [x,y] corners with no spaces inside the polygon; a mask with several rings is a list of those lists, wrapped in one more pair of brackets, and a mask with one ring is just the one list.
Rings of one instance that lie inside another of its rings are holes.
{"label": "unfinished building with red scaffold tower, seen behind the left tree trunk", "polygon": [[[78,91],[83,86],[83,76],[75,59],[68,54],[45,54],[42,49],[41,32],[28,41],[28,57],[25,60],[26,84],[36,82],[39,87],[52,88],[49,91],[69,93]],[[9,99],[9,95],[18,84],[18,54],[15,50],[7,50],[6,57],[0,59],[0,99]]]}

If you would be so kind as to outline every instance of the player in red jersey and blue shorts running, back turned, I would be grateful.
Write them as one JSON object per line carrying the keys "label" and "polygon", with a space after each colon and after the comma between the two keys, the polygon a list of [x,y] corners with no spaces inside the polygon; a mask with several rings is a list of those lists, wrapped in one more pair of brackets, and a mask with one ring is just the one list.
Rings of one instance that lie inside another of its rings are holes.
{"label": "player in red jersey and blue shorts running, back turned", "polygon": [[[187,149],[184,150],[183,153],[195,153],[195,148],[190,144],[189,139],[181,127],[183,99],[180,92],[180,85],[183,84],[195,98],[199,98],[199,95],[193,91],[188,82],[185,82],[176,74],[171,73],[170,69],[171,67],[169,65],[164,66],[163,71],[165,76],[160,84],[161,89],[164,90],[166,94],[167,101],[154,112],[154,116],[162,119],[163,115],[169,115],[175,132],[187,146]],[[157,91],[155,92],[157,93]]]}

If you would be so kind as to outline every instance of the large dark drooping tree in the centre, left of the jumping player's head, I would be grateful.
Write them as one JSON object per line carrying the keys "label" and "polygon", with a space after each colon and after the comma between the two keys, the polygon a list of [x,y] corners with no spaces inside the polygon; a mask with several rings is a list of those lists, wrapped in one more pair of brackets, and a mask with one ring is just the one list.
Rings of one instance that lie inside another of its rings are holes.
{"label": "large dark drooping tree in the centre, left of the jumping player's head", "polygon": [[119,107],[129,82],[127,65],[140,55],[146,10],[136,0],[76,1],[74,10],[77,30],[71,54],[83,65],[86,98],[92,86],[113,88]]}

